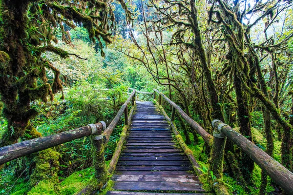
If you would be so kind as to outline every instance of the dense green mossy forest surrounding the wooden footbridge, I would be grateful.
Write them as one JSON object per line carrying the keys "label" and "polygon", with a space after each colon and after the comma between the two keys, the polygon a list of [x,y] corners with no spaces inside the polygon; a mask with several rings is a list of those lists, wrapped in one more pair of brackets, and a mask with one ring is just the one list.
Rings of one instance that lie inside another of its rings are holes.
{"label": "dense green mossy forest surrounding the wooden footbridge", "polygon": [[[291,0],[0,0],[0,10],[0,147],[108,124],[128,87],[156,88],[210,134],[220,119],[293,171]],[[175,121],[209,167],[210,147]],[[84,138],[4,164],[0,193],[64,194],[71,175],[91,179],[90,150]],[[282,193],[230,140],[224,175],[233,194]]]}

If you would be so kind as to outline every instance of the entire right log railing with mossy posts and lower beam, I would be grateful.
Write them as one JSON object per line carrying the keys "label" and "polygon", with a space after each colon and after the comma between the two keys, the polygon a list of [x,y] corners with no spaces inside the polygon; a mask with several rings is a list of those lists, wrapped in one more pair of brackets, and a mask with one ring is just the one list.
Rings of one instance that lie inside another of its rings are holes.
{"label": "entire right log railing with mossy posts and lower beam", "polygon": [[[159,101],[156,101],[156,93],[159,94]],[[164,108],[162,107],[162,97],[172,106],[171,117],[168,117]],[[224,159],[224,148],[227,137],[234,142],[239,148],[242,149],[247,155],[251,157],[251,159],[262,169],[264,170],[268,176],[272,178],[272,180],[277,183],[287,194],[293,194],[293,173],[286,169],[279,162],[274,160],[271,156],[265,153],[263,150],[258,148],[255,144],[253,144],[249,139],[242,136],[241,134],[234,131],[229,125],[224,124],[220,120],[213,120],[212,125],[214,128],[213,136],[211,136],[207,131],[205,131],[197,122],[195,122],[192,118],[190,118],[178,105],[176,105],[173,101],[167,98],[163,93],[154,89],[154,101],[157,103],[158,107],[162,110],[163,114],[170,122],[171,128],[179,141],[181,147],[187,153],[188,158],[193,164],[193,167],[198,175],[201,173],[198,171],[199,167],[196,163],[195,159],[193,162],[192,158],[190,158],[190,152],[185,145],[182,137],[178,134],[176,130],[175,123],[173,122],[175,112],[177,111],[179,115],[184,118],[187,123],[198,132],[199,135],[203,137],[203,139],[209,144],[212,148],[211,150],[211,171],[213,175],[216,176],[217,180],[212,184],[213,189],[217,195],[229,195],[225,185],[222,182],[223,177],[223,159]]]}

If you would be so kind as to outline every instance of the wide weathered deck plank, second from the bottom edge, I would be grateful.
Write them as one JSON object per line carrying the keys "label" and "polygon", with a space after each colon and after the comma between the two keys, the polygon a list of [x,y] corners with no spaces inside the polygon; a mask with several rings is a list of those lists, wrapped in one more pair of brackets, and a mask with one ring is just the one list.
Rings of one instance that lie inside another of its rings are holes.
{"label": "wide weathered deck plank, second from the bottom edge", "polygon": [[194,183],[180,182],[115,182],[113,189],[117,190],[180,190],[180,191],[196,191],[204,192],[202,187]]}

